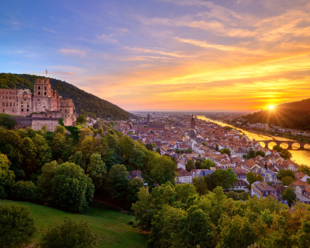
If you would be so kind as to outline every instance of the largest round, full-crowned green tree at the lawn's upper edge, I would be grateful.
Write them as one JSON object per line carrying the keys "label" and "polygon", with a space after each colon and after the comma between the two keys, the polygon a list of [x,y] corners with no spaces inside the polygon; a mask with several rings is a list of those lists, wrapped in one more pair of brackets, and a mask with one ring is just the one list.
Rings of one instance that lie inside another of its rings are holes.
{"label": "largest round, full-crowned green tree at the lawn's upper edge", "polygon": [[63,163],[51,180],[50,202],[67,211],[82,212],[89,209],[94,196],[92,180],[75,163]]}

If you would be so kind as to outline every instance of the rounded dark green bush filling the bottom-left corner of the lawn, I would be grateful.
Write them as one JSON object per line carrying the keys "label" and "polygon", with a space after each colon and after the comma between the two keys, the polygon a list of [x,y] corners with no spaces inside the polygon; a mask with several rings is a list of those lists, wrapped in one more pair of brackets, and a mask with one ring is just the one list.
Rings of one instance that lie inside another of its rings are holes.
{"label": "rounded dark green bush filling the bottom-left corner of the lawn", "polygon": [[35,220],[27,206],[0,206],[0,247],[27,246],[35,231]]}

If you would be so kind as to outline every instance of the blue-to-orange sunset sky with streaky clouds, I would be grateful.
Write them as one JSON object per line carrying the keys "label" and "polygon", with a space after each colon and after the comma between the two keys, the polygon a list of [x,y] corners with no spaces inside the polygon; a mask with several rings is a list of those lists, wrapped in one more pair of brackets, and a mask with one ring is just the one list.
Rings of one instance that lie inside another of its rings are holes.
{"label": "blue-to-orange sunset sky with streaky clouds", "polygon": [[128,111],[258,111],[310,97],[309,0],[0,6],[0,73],[47,69]]}

